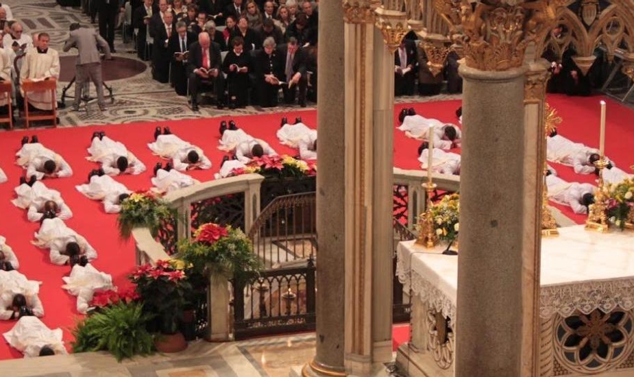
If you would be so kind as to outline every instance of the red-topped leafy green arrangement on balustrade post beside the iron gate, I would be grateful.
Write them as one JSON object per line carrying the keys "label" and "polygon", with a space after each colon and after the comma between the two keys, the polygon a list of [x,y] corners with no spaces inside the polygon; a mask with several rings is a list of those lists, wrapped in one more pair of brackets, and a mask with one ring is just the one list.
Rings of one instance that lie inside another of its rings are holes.
{"label": "red-topped leafy green arrangement on balustrade post beside the iron gate", "polygon": [[248,282],[258,277],[263,265],[253,245],[238,228],[206,223],[191,240],[178,243],[179,258],[198,273]]}

